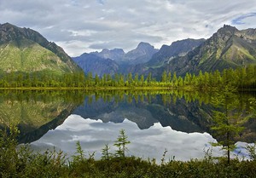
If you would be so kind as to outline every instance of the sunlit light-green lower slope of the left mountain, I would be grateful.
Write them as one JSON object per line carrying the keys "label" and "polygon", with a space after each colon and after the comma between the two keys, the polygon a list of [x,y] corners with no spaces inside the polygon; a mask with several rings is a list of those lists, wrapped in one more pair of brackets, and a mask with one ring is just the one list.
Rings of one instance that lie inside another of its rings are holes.
{"label": "sunlit light-green lower slope of the left mountain", "polygon": [[39,72],[45,69],[59,74],[72,72],[60,57],[31,40],[20,39],[0,45],[2,72]]}

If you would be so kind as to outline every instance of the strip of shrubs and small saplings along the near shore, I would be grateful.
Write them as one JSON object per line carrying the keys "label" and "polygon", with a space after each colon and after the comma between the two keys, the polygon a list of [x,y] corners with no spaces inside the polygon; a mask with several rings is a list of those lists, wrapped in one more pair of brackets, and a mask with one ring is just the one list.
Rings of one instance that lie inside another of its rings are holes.
{"label": "strip of shrubs and small saplings along the near shore", "polygon": [[124,130],[114,142],[116,151],[109,152],[109,146],[102,149],[102,158],[96,160],[94,153],[85,155],[79,142],[77,152],[67,159],[61,151],[34,153],[28,146],[19,146],[15,137],[18,130],[13,127],[10,135],[2,132],[0,138],[1,177],[254,177],[256,171],[255,146],[248,146],[252,160],[212,158],[206,152],[205,158],[187,162],[165,161],[125,157],[126,146],[130,143]]}

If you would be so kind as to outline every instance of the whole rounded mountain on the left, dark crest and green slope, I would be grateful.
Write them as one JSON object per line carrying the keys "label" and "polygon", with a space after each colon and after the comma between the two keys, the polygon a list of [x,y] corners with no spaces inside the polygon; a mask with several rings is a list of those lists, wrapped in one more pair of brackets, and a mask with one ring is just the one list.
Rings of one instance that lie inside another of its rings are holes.
{"label": "whole rounded mountain on the left, dark crest and green slope", "polygon": [[81,69],[55,43],[29,28],[0,25],[1,72],[77,72]]}

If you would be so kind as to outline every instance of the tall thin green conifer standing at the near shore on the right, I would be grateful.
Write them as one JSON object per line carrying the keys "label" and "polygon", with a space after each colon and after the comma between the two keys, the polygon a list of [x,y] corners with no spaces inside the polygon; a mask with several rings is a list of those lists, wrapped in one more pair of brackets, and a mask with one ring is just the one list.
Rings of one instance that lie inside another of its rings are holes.
{"label": "tall thin green conifer standing at the near shore on the right", "polygon": [[230,152],[236,148],[232,139],[241,132],[242,123],[247,119],[241,115],[239,101],[234,96],[234,91],[232,86],[226,85],[212,97],[212,105],[216,110],[213,111],[214,124],[211,129],[215,131],[214,135],[219,140],[212,146],[222,146],[226,151],[228,164],[230,164]]}

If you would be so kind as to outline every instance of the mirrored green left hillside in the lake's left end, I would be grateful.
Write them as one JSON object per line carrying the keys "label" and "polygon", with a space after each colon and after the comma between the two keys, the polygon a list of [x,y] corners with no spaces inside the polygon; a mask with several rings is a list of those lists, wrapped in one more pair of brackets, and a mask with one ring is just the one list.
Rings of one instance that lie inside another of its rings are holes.
{"label": "mirrored green left hillside in the lake's left end", "polygon": [[73,92],[2,91],[0,93],[0,128],[17,125],[19,142],[37,141],[80,105]]}

